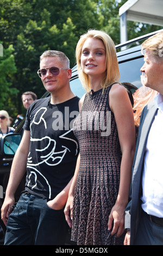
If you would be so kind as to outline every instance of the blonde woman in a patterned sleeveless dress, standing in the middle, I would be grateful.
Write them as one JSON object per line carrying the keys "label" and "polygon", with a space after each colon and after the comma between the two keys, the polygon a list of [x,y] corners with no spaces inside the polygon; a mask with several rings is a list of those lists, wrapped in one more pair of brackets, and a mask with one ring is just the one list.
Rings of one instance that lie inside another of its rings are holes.
{"label": "blonde woman in a patterned sleeveless dress, standing in the middle", "polygon": [[90,30],[82,35],[76,58],[87,93],[74,123],[80,154],[65,216],[78,245],[122,245],[135,151],[133,110],[118,83],[115,45],[108,34]]}

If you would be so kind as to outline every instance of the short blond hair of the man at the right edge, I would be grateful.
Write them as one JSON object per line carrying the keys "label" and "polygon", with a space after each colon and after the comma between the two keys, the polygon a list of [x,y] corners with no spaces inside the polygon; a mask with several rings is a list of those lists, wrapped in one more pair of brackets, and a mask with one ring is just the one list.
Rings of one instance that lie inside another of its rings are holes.
{"label": "short blond hair of the man at the right edge", "polygon": [[142,43],[142,54],[144,50],[149,50],[156,60],[163,60],[163,32],[159,32]]}

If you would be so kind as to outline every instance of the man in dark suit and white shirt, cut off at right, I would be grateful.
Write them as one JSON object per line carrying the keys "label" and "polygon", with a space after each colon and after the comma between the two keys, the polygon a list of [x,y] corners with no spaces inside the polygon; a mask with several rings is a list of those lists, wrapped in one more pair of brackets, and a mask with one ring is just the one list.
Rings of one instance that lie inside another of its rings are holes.
{"label": "man in dark suit and white shirt, cut off at right", "polygon": [[163,245],[163,32],[142,44],[146,87],[158,92],[141,114],[124,245]]}

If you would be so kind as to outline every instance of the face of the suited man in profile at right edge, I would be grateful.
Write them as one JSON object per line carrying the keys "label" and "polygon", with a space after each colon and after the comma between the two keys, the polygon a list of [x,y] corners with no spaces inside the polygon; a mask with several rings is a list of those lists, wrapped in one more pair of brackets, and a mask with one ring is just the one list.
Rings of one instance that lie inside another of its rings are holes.
{"label": "face of the suited man in profile at right edge", "polygon": [[150,87],[163,94],[163,59],[157,60],[151,52],[145,52],[145,64],[140,69],[143,72],[143,82],[146,87]]}

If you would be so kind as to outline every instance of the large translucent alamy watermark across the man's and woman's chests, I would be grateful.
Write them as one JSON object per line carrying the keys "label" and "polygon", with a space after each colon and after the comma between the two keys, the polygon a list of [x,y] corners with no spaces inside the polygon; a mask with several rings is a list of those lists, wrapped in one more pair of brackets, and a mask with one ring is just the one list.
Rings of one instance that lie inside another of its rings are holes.
{"label": "large translucent alamy watermark across the man's and woman's chests", "polygon": [[[78,116],[79,115],[79,116]],[[78,118],[77,118],[78,117]],[[76,119],[75,129],[77,131],[101,131],[101,136],[109,136],[111,132],[111,112],[107,111],[78,111],[69,112],[69,107],[65,107],[64,115],[60,111],[54,111],[52,118],[53,130],[74,129],[73,123]]]}

